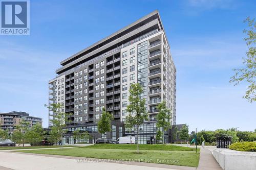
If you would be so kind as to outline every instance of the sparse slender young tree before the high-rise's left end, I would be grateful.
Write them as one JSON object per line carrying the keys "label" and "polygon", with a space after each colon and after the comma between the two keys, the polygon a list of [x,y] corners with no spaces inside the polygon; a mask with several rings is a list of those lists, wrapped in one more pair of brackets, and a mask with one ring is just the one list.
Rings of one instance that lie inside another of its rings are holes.
{"label": "sparse slender young tree before the high-rise's left end", "polygon": [[48,106],[48,108],[53,112],[53,119],[50,120],[52,123],[51,129],[54,130],[54,133],[57,132],[58,135],[56,136],[57,137],[56,139],[61,141],[61,149],[62,149],[63,148],[62,136],[67,132],[63,128],[66,127],[65,122],[68,122],[68,115],[70,114],[66,114],[65,112],[61,111],[63,106],[60,103],[51,104],[50,106]]}

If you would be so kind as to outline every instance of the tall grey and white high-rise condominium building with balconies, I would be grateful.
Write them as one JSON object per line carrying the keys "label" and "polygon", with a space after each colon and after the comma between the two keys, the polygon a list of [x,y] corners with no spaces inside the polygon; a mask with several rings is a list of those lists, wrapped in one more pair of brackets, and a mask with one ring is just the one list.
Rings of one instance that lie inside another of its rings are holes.
{"label": "tall grey and white high-rise condominium building with balconies", "polygon": [[[140,128],[140,143],[155,142],[157,105],[166,101],[172,110],[170,123],[176,124],[176,68],[158,11],[94,43],[60,62],[57,77],[49,81],[49,104],[62,103],[71,113],[64,143],[73,143],[74,130],[89,131],[94,138],[102,108],[113,114],[108,138],[135,135],[126,131],[129,89],[133,83],[143,87],[149,121]],[[49,111],[49,118],[52,118]],[[49,124],[49,126],[51,126]],[[136,136],[137,138],[137,136]],[[165,142],[169,132],[165,133]],[[82,141],[76,141],[82,142]],[[91,141],[90,141],[91,142]]]}

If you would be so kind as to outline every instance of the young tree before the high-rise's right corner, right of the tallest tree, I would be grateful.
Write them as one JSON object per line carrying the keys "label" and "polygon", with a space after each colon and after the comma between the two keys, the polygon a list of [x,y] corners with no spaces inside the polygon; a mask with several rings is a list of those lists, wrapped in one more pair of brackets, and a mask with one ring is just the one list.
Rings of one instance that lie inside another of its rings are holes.
{"label": "young tree before the high-rise's right corner, right of the tallest tree", "polygon": [[158,106],[157,110],[159,113],[157,114],[157,128],[162,128],[162,139],[164,144],[164,131],[167,131],[170,128],[170,118],[172,117],[172,113],[170,110],[166,107],[166,102],[162,101]]}

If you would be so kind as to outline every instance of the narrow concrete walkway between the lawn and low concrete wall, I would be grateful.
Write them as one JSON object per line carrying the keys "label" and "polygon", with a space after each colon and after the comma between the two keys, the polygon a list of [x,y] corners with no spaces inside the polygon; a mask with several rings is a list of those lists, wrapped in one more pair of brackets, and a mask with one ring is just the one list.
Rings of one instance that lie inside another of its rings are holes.
{"label": "narrow concrete walkway between the lawn and low concrete wall", "polygon": [[200,150],[200,159],[197,170],[222,170],[209,149]]}

